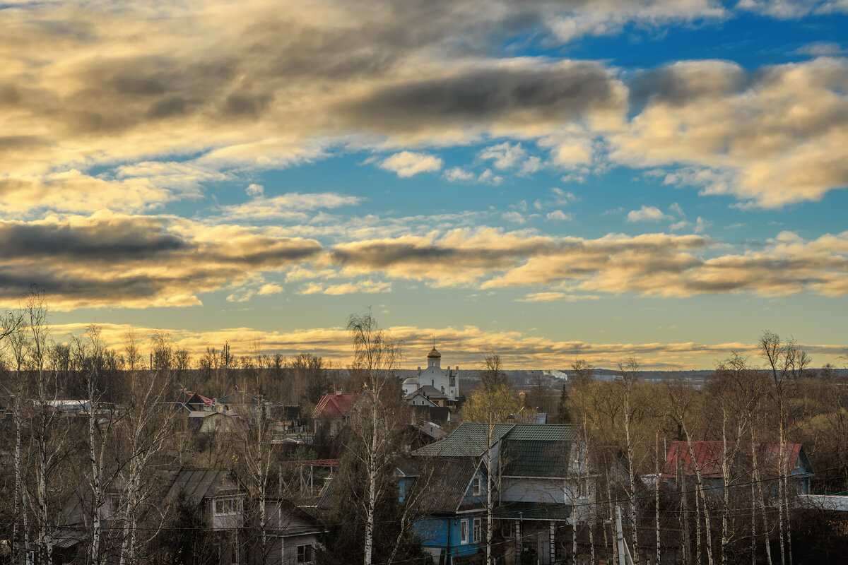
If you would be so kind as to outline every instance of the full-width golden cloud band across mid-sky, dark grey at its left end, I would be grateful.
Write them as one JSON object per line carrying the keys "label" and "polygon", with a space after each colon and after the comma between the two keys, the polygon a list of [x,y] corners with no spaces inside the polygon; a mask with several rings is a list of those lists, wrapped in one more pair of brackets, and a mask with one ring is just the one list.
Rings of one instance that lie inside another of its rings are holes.
{"label": "full-width golden cloud band across mid-sky, dark grey at its left end", "polygon": [[[312,202],[309,195],[291,200]],[[271,275],[280,280],[285,275],[287,285],[301,294],[385,292],[391,280],[549,290],[530,292],[531,302],[542,301],[541,296],[575,300],[622,292],[848,293],[848,232],[808,241],[784,231],[761,249],[745,252],[704,235],[587,239],[484,227],[323,245],[272,227],[102,212],[0,221],[0,249],[0,302],[14,306],[20,289],[39,281],[59,310],[192,306],[201,303],[198,294],[228,289],[230,300],[243,302],[271,293],[269,285],[282,291],[266,280]]]}

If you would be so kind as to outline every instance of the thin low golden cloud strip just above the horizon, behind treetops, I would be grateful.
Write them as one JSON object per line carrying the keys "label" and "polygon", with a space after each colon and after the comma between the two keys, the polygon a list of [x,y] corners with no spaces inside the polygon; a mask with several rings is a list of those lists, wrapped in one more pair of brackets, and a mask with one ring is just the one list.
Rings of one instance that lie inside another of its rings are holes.
{"label": "thin low golden cloud strip just above the horizon, behind treetops", "polygon": [[[69,332],[81,332],[86,324],[53,326],[54,337]],[[103,340],[109,346],[119,347],[130,327],[122,324],[103,324]],[[488,351],[499,352],[510,368],[567,368],[579,357],[597,367],[615,367],[622,357],[638,357],[647,368],[703,368],[711,367],[717,359],[731,352],[756,355],[756,344],[729,342],[703,344],[692,341],[672,343],[590,343],[585,341],[551,340],[523,334],[518,331],[487,331],[476,326],[448,326],[420,328],[393,326],[392,335],[403,341],[405,355],[403,368],[420,365],[432,347],[432,335],[438,336],[438,348],[445,363],[475,370]],[[153,330],[137,328],[137,335],[148,335]],[[220,347],[228,342],[235,355],[253,351],[259,343],[263,352],[280,352],[294,355],[312,352],[326,357],[341,367],[350,363],[350,336],[343,327],[311,328],[290,332],[261,331],[253,328],[227,328],[214,331],[190,331],[178,328],[166,330],[175,346],[185,348],[198,357],[207,346]],[[840,345],[804,345],[805,351],[817,359],[832,359],[842,354]]]}

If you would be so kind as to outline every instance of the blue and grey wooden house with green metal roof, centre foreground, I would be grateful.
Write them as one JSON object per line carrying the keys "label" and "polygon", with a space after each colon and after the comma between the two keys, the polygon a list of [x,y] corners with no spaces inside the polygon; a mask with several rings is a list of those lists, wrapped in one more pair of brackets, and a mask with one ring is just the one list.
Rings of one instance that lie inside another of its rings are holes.
{"label": "blue and grey wooden house with green metal roof, centre foreground", "polygon": [[[434,563],[485,551],[487,473],[492,469],[496,555],[550,563],[563,557],[576,499],[585,497],[583,441],[577,426],[461,424],[444,440],[399,464],[401,501]],[[489,449],[491,447],[491,449]],[[491,453],[492,463],[488,465]]]}

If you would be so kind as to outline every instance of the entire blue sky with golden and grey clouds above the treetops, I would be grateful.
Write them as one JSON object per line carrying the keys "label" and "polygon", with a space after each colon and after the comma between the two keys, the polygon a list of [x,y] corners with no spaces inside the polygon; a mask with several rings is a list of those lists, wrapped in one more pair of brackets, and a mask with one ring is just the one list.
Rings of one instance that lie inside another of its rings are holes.
{"label": "entire blue sky with golden and grey clouds above the treetops", "polygon": [[0,0],[0,306],[343,366],[848,346],[845,0]]}

